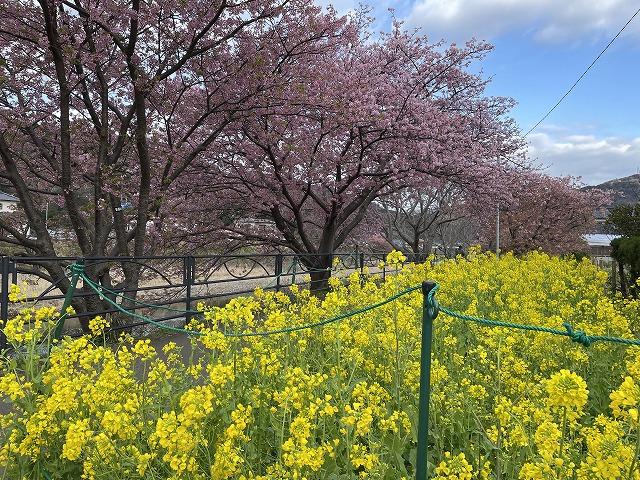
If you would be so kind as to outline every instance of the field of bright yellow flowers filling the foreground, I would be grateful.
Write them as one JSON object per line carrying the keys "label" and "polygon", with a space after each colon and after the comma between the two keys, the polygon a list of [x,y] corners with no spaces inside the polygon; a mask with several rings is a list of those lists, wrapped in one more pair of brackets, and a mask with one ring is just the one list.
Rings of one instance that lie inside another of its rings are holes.
{"label": "field of bright yellow flowers filling the foreground", "polygon": [[[586,260],[472,253],[398,269],[382,283],[332,280],[322,300],[292,287],[201,306],[188,354],[129,337],[106,344],[101,318],[93,338],[54,343],[55,310],[25,309],[5,326],[16,353],[0,378],[2,478],[411,478],[419,291],[314,329],[225,333],[316,322],[425,279],[460,312],[640,333],[640,303],[610,298],[606,273]],[[430,478],[640,479],[640,348],[586,348],[443,314],[434,328]]]}

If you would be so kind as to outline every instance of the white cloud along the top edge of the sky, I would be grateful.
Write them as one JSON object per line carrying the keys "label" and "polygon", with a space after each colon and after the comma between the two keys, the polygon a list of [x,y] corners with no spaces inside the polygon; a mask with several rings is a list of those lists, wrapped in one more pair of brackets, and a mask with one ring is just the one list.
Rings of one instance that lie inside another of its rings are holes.
{"label": "white cloud along the top edge of the sky", "polygon": [[[510,31],[546,42],[596,40],[617,32],[637,8],[629,0],[416,0],[407,22],[456,41]],[[640,34],[640,19],[627,30]]]}

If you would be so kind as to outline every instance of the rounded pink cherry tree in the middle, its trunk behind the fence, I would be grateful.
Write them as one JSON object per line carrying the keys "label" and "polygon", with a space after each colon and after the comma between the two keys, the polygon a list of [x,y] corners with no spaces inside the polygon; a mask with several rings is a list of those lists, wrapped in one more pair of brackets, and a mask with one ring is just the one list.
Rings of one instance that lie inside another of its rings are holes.
{"label": "rounded pink cherry tree in the middle, its trunk behind the fence", "polygon": [[318,288],[376,199],[434,180],[491,185],[521,147],[512,102],[484,96],[469,72],[490,46],[444,48],[399,24],[371,39],[355,24],[324,55],[278,64],[281,95],[211,158],[227,211],[271,222],[247,229],[232,216],[223,230],[304,255]]}

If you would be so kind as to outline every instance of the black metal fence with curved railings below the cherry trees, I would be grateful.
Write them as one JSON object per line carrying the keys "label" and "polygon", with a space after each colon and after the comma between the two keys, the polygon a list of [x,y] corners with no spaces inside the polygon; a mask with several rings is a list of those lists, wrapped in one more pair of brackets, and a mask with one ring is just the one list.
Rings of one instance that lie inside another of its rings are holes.
{"label": "black metal fence with curved railings below the cherry trees", "polygon": [[[351,253],[335,253],[331,257],[331,266],[322,269],[310,266],[319,263],[313,255],[296,254],[93,258],[3,256],[0,265],[0,318],[6,321],[14,313],[9,302],[11,284],[27,283],[28,296],[24,299],[26,304],[47,302],[62,305],[65,295],[57,288],[56,282],[48,278],[45,269],[47,264],[52,263],[68,267],[81,261],[85,269],[103,267],[101,271],[107,272],[108,277],[102,280],[98,278],[96,281],[113,292],[113,300],[119,300],[124,305],[126,297],[135,297],[135,302],[127,303],[127,310],[139,311],[151,316],[154,321],[165,322],[185,317],[185,320],[188,320],[188,312],[195,309],[201,301],[224,301],[233,296],[252,293],[258,287],[280,291],[292,284],[309,285],[312,282],[309,277],[320,270],[331,271],[333,275],[346,275],[355,270],[364,271],[365,267],[368,267],[372,275],[384,278],[387,267],[379,268],[379,265],[385,256],[386,252],[358,250]],[[134,264],[139,268],[140,278],[133,288],[117,286],[123,283],[123,266],[126,264]],[[117,318],[118,310],[111,308],[112,306],[106,302],[100,302],[99,297],[95,291],[85,288],[84,285],[76,289],[73,296],[75,303],[84,301],[87,305],[100,307],[85,309],[70,315],[68,319],[86,320],[97,315],[112,315],[112,318]],[[146,325],[145,322],[129,323],[129,320],[112,322],[114,326],[110,330],[132,329]],[[72,334],[74,333],[83,333],[79,323],[77,330],[72,331]],[[6,339],[0,332],[0,348],[5,346],[5,342]]]}

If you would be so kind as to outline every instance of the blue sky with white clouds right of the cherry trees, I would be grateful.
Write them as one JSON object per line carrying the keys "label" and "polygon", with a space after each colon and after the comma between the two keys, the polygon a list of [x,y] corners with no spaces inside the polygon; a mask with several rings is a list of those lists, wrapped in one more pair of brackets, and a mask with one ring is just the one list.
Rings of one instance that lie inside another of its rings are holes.
{"label": "blue sky with white clouds right of the cherry trees", "polygon": [[[433,41],[494,45],[480,65],[487,94],[514,98],[523,132],[560,99],[640,8],[640,0],[323,0],[347,13],[372,6],[374,28],[396,18]],[[559,107],[527,137],[552,175],[596,185],[640,173],[640,14]]]}

